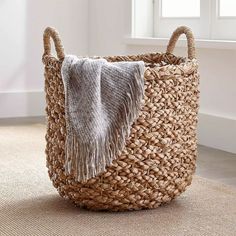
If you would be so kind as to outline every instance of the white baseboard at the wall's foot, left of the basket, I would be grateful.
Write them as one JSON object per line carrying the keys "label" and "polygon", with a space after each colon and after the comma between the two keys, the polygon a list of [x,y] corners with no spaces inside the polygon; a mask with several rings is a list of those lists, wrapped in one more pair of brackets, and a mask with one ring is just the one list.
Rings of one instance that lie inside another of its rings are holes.
{"label": "white baseboard at the wall's foot, left of the basket", "polygon": [[0,92],[0,118],[45,115],[44,91]]}

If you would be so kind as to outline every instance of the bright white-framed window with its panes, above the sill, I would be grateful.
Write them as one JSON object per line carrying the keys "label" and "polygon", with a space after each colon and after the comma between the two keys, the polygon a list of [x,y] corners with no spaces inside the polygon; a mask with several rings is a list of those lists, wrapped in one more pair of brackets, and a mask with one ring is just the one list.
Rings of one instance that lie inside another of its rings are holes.
{"label": "bright white-framed window with its panes, above the sill", "polygon": [[133,11],[134,36],[169,38],[186,25],[199,39],[236,40],[236,0],[133,0]]}

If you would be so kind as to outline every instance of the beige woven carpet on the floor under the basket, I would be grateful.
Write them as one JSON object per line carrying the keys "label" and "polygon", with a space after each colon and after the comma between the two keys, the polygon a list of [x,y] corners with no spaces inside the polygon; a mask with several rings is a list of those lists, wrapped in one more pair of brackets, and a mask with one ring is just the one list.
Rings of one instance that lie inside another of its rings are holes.
{"label": "beige woven carpet on the floor under the basket", "polygon": [[0,127],[0,235],[236,235],[236,188],[195,177],[155,210],[81,210],[47,176],[43,125]]}

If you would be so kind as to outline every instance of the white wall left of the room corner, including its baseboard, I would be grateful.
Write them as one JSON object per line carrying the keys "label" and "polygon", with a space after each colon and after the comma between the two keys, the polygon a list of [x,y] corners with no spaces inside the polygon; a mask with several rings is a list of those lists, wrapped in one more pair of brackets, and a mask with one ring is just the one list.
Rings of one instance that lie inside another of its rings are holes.
{"label": "white wall left of the room corner, including its baseboard", "polygon": [[41,58],[47,26],[58,29],[68,53],[87,55],[87,0],[0,1],[0,117],[44,114]]}

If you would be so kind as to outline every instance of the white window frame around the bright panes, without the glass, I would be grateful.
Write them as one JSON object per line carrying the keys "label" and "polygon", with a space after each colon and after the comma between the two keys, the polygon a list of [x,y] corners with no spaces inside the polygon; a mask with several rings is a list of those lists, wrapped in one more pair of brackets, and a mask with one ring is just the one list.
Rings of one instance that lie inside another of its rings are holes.
{"label": "white window frame around the bright panes, without the glass", "polygon": [[200,17],[163,17],[162,0],[153,0],[153,37],[167,38],[179,25],[187,25],[198,39],[236,41],[236,16],[220,16],[220,1],[200,0]]}

